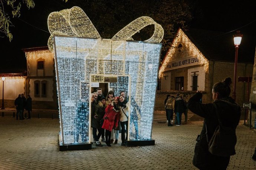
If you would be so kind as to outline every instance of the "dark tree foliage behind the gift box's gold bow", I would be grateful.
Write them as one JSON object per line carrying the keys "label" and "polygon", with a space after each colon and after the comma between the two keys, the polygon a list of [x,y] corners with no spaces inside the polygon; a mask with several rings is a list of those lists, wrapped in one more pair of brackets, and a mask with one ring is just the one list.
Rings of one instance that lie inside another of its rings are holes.
{"label": "dark tree foliage behind the gift box's gold bow", "polygon": [[[105,0],[85,0],[81,6],[102,38],[112,38],[138,17],[151,17],[164,28],[162,57],[170,47],[178,28],[186,29],[190,26],[195,7],[191,0],[111,0],[107,3]],[[154,26],[147,26],[133,38],[144,41],[153,32]]]}

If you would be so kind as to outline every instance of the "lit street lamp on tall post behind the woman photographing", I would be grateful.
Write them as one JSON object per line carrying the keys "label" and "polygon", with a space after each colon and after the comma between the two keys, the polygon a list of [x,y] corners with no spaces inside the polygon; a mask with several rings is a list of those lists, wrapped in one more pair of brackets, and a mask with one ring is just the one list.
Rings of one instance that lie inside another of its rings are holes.
{"label": "lit street lamp on tall post behind the woman photographing", "polygon": [[236,49],[236,54],[235,54],[235,62],[234,62],[234,86],[233,86],[233,99],[236,101],[236,68],[237,68],[237,55],[238,55],[238,48],[241,43],[243,34],[240,33],[240,31],[236,31],[236,34],[233,35],[234,37],[234,45]]}

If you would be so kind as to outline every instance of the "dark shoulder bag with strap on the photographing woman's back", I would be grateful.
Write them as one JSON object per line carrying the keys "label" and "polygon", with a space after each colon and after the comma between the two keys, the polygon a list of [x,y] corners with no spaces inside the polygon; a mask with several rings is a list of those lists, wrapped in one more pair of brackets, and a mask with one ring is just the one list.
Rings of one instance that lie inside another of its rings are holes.
{"label": "dark shoulder bag with strap on the photographing woman's back", "polygon": [[[216,156],[231,156],[236,154],[235,145],[236,145],[236,132],[235,129],[230,127],[224,127],[220,122],[220,115],[215,103],[213,103],[216,110],[216,115],[218,118],[219,125],[213,133],[213,137],[209,142],[209,152]],[[206,127],[207,132],[207,127]],[[207,135],[207,134],[206,134]],[[208,137],[207,137],[208,139]],[[208,142],[208,140],[207,140]]]}

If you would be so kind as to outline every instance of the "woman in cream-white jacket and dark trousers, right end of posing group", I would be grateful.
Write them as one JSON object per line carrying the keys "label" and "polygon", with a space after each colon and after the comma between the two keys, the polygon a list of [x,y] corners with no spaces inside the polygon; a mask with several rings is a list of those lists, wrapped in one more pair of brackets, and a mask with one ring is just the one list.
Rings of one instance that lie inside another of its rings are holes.
{"label": "woman in cream-white jacket and dark trousers, right end of posing group", "polygon": [[[121,133],[121,139],[122,139],[122,146],[127,145],[127,139],[128,139],[128,115],[129,115],[129,102],[125,105],[125,98],[124,96],[119,96],[119,106],[120,106],[120,116],[119,121],[121,123],[122,133]],[[130,111],[132,112],[132,110]],[[125,126],[124,126],[125,125]],[[125,137],[126,133],[126,137]]]}

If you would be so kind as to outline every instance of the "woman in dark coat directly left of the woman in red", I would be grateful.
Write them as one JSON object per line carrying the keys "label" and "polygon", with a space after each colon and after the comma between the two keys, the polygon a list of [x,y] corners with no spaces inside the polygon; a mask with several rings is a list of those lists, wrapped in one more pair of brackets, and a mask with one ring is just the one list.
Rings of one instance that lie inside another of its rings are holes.
{"label": "woman in dark coat directly left of the woman in red", "polygon": [[[99,104],[95,106],[95,112],[92,113],[92,135],[93,135],[93,141],[95,140],[96,146],[102,146],[99,142],[99,137],[101,137],[102,134],[104,134],[105,130],[101,128],[101,125],[99,121],[103,118],[105,115],[105,109],[106,109],[106,98],[102,97]],[[97,135],[97,129],[98,129],[98,135]]]}

